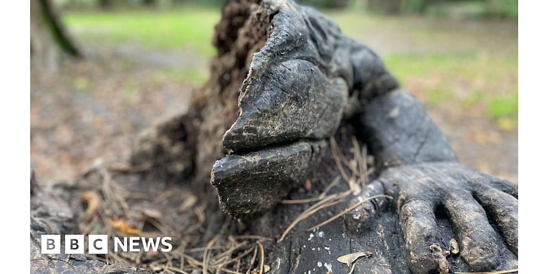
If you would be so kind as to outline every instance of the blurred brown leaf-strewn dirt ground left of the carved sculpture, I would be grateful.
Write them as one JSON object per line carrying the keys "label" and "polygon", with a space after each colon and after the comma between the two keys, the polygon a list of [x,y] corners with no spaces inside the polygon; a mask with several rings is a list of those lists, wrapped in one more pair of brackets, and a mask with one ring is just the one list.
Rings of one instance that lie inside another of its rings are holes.
{"label": "blurred brown leaf-strewn dirt ground left of the carved sculpture", "polygon": [[185,52],[89,53],[57,72],[31,69],[31,162],[40,182],[71,181],[96,160],[128,155],[139,132],[185,112],[196,84],[159,73],[207,66]]}

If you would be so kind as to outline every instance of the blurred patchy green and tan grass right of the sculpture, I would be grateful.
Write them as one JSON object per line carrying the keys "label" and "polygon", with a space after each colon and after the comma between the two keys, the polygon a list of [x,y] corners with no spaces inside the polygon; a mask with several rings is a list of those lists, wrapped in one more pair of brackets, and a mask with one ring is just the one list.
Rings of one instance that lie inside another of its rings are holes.
{"label": "blurred patchy green and tan grass right of the sculpture", "polygon": [[[516,24],[327,12],[342,32],[382,52],[389,71],[430,108],[516,123]],[[394,44],[394,45],[393,45]],[[404,45],[404,47],[402,47]]]}

